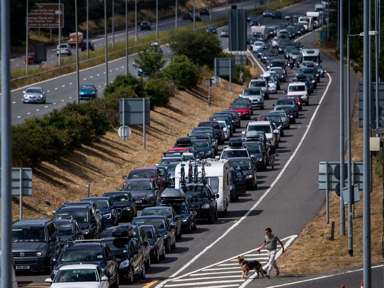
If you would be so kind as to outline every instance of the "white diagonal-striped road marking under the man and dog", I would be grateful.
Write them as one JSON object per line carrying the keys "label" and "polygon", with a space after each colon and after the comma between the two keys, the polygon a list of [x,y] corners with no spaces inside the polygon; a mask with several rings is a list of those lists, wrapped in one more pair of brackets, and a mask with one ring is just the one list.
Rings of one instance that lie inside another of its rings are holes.
{"label": "white diagonal-striped road marking under the man and dog", "polygon": [[[284,247],[289,247],[296,237],[297,235],[292,235],[282,239],[282,241],[285,242]],[[265,255],[268,254],[267,250],[264,249],[261,252],[262,253],[259,254],[257,252],[257,248],[255,248],[250,251],[244,252],[241,255],[244,255],[244,258],[247,260],[258,260],[261,263],[267,263],[267,261],[262,261],[266,259]],[[278,245],[278,253],[276,253],[276,258],[278,258],[282,254],[282,252],[282,247]],[[206,267],[200,268],[193,272],[186,273],[174,279],[169,279],[166,282],[160,283],[160,285],[163,285],[163,287],[201,287],[200,285],[209,285],[209,287],[216,287],[212,284],[225,283],[226,285],[220,285],[220,287],[239,287],[240,285],[244,286],[245,283],[247,283],[248,279],[239,279],[241,277],[241,270],[239,269],[237,258],[238,255],[232,256],[223,261],[210,264]],[[222,268],[223,265],[229,265],[230,267]],[[159,285],[156,287],[159,287]]]}

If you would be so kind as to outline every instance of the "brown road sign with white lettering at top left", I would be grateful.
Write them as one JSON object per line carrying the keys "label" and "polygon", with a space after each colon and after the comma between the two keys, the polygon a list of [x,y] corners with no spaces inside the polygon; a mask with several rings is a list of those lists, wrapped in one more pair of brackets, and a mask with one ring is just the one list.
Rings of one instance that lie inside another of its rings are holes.
{"label": "brown road sign with white lettering at top left", "polygon": [[[60,3],[38,3],[28,14],[29,28],[58,28],[64,27],[64,5]],[[61,11],[60,11],[61,10]],[[61,12],[61,13],[60,13]]]}

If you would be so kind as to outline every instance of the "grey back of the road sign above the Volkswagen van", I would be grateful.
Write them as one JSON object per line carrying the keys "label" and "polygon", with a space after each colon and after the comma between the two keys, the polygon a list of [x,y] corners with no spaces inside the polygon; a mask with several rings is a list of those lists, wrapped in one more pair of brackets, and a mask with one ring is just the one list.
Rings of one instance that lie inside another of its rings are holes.
{"label": "grey back of the road sign above the Volkswagen van", "polygon": [[12,196],[20,196],[20,192],[23,196],[32,196],[32,168],[12,168],[11,192]]}

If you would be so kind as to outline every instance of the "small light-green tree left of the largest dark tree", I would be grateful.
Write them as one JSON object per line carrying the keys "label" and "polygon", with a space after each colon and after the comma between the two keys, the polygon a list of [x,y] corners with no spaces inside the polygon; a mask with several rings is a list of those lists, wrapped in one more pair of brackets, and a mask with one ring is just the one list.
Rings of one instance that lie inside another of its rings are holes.
{"label": "small light-green tree left of the largest dark tree", "polygon": [[151,78],[160,72],[164,64],[163,52],[160,47],[151,46],[147,50],[139,52],[139,57],[135,59],[133,66],[141,69],[143,75]]}

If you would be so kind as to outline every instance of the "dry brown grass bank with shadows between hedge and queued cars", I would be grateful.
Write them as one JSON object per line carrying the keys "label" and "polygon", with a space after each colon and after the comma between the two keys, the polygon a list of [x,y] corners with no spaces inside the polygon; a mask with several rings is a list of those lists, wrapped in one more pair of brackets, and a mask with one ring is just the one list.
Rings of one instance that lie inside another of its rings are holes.
{"label": "dry brown grass bank with shadows between hedge and queued cars", "polygon": [[[203,79],[205,76],[203,75]],[[204,83],[205,84],[205,81]],[[42,163],[33,171],[33,196],[24,198],[24,217],[52,217],[52,210],[64,201],[79,200],[91,194],[121,188],[121,176],[134,167],[155,165],[176,138],[186,136],[193,126],[214,112],[225,109],[241,93],[242,87],[221,81],[208,90],[199,86],[193,91],[178,92],[166,107],[151,111],[151,125],[146,127],[146,149],[143,149],[142,126],[132,126],[132,135],[125,143],[117,131],[109,131],[91,146],[83,146],[69,157],[55,163]],[[13,219],[18,218],[18,200],[13,203]]]}

